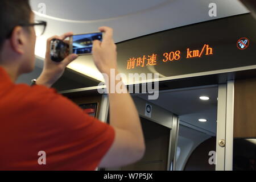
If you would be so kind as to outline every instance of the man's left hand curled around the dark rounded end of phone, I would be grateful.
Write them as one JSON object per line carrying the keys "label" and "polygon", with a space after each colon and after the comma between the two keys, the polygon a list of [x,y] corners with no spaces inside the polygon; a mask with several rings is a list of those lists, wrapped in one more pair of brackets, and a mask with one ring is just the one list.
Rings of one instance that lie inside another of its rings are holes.
{"label": "man's left hand curled around the dark rounded end of phone", "polygon": [[[72,35],[73,35],[72,32],[68,32],[61,36],[52,36],[51,38],[47,39],[46,59],[44,60],[43,72],[36,80],[37,85],[44,85],[50,88],[63,75],[67,65],[77,58],[76,54],[72,54],[72,55],[68,55],[60,63],[56,63],[55,61],[51,60],[51,55],[50,55],[51,40],[54,38],[65,40],[66,38]],[[68,43],[67,41],[65,42]]]}

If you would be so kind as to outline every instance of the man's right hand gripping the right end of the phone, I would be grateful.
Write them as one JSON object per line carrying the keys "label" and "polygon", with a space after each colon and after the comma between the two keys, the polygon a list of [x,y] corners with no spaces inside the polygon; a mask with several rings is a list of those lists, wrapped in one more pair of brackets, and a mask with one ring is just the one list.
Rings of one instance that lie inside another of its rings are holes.
{"label": "man's right hand gripping the right end of the phone", "polygon": [[94,40],[93,59],[96,67],[101,73],[110,73],[110,69],[117,69],[117,46],[114,44],[113,29],[100,27],[101,32],[105,32],[102,42]]}

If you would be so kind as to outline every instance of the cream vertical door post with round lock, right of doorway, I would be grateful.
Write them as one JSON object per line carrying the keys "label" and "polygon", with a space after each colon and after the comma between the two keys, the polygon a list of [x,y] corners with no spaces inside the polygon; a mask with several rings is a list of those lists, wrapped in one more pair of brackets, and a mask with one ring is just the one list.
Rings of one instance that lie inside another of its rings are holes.
{"label": "cream vertical door post with round lock, right of doorway", "polygon": [[[234,80],[218,85],[216,171],[233,169]],[[225,140],[221,147],[219,141]]]}

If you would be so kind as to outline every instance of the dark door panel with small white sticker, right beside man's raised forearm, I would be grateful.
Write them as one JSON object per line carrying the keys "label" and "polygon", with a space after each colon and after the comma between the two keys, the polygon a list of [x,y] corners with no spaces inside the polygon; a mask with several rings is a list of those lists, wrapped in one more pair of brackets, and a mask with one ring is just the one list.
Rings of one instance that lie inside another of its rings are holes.
{"label": "dark door panel with small white sticker, right beside man's raised forearm", "polygon": [[138,96],[133,96],[141,119],[146,151],[141,160],[119,168],[108,168],[112,171],[167,171],[174,160],[177,132],[177,116]]}

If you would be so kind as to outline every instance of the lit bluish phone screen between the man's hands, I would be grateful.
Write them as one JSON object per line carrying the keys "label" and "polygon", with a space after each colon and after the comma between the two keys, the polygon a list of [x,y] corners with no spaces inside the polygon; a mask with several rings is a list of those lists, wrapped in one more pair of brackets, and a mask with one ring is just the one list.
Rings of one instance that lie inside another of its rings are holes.
{"label": "lit bluish phone screen between the man's hands", "polygon": [[93,40],[102,41],[102,32],[73,35],[73,53],[77,55],[92,53]]}

